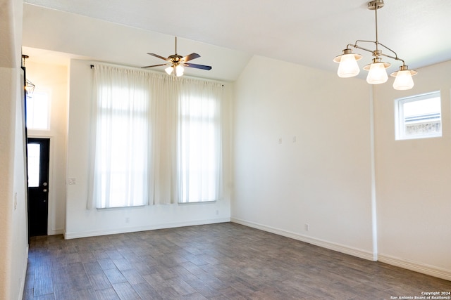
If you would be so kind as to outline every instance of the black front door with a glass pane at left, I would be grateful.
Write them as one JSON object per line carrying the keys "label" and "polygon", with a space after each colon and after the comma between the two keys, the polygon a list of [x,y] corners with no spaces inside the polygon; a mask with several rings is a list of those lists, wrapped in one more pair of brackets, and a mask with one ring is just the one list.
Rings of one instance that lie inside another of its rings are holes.
{"label": "black front door with a glass pane at left", "polygon": [[28,138],[28,235],[47,235],[49,215],[49,138]]}

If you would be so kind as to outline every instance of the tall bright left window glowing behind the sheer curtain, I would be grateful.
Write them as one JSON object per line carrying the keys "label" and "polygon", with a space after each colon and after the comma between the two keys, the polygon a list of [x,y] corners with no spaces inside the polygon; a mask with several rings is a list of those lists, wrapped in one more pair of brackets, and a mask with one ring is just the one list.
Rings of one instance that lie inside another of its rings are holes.
{"label": "tall bright left window glowing behind the sheer curtain", "polygon": [[147,204],[149,111],[145,91],[105,87],[97,110],[97,207]]}

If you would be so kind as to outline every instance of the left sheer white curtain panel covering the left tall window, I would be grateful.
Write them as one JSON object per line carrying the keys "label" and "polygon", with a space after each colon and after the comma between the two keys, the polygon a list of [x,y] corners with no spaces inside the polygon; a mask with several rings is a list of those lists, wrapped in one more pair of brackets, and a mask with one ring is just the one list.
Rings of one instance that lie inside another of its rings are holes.
{"label": "left sheer white curtain panel covering the left tall window", "polygon": [[149,202],[152,97],[144,72],[94,67],[92,201],[97,208]]}

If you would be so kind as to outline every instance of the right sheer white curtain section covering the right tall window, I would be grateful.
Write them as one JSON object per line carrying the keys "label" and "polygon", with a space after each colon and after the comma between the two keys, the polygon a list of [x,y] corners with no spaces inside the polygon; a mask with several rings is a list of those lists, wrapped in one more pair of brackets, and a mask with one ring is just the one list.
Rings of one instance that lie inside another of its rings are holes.
{"label": "right sheer white curtain section covering the right tall window", "polygon": [[223,87],[185,79],[178,98],[177,171],[180,202],[221,197]]}

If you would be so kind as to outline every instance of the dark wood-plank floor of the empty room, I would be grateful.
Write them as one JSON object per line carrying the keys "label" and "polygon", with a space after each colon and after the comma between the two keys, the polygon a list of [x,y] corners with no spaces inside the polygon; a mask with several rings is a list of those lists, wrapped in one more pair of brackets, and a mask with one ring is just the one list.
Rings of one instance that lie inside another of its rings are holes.
{"label": "dark wood-plank floor of the empty room", "polygon": [[395,299],[451,282],[235,223],[30,240],[23,299]]}

